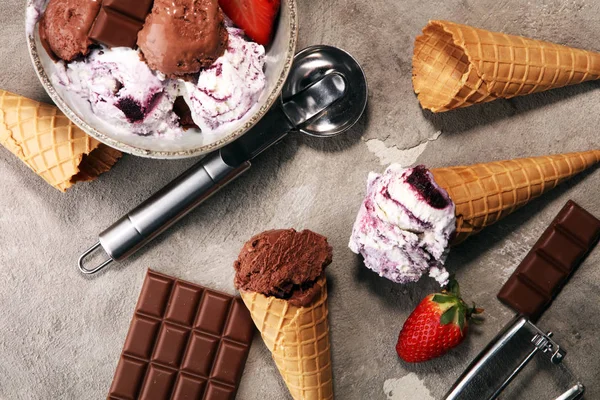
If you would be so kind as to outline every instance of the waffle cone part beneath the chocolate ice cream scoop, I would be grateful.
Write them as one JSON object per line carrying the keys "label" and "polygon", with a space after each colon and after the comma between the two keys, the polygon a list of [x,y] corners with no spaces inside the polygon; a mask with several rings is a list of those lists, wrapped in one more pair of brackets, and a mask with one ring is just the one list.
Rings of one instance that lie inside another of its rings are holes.
{"label": "waffle cone part beneath the chocolate ice cream scoop", "polygon": [[321,286],[321,293],[307,307],[260,293],[241,292],[295,400],[333,399],[327,282],[321,278],[315,284]]}

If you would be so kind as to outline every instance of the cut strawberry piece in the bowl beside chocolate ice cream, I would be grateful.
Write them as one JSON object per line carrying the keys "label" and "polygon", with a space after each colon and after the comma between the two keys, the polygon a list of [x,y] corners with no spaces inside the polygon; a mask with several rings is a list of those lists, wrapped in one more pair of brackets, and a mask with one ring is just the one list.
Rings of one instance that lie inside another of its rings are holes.
{"label": "cut strawberry piece in the bowl beside chocolate ice cream", "polygon": [[256,43],[268,45],[281,0],[219,0],[223,12]]}

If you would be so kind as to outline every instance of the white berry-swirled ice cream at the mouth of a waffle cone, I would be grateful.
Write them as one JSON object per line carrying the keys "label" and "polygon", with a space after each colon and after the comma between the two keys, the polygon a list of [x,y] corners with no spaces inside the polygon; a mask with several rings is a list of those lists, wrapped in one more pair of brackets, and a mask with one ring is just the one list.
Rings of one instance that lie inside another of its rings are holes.
{"label": "white berry-swirled ice cream at the mouth of a waffle cone", "polygon": [[415,282],[427,273],[445,285],[455,226],[454,203],[425,167],[392,164],[383,175],[369,174],[349,246],[369,269],[394,282]]}

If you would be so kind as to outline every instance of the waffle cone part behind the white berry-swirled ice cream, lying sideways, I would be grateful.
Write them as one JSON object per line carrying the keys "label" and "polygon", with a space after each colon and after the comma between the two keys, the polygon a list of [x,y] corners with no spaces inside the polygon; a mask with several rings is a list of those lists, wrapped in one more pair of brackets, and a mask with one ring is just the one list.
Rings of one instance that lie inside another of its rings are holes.
{"label": "waffle cone part behind the white berry-swirled ice cream, lying sideways", "polygon": [[458,244],[600,162],[600,150],[432,169],[456,206]]}

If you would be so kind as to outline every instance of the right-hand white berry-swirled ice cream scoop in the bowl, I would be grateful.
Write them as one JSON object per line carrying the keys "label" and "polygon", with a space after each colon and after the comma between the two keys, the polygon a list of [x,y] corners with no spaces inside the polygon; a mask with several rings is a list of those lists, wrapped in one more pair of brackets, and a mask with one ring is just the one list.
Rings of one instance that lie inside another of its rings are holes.
{"label": "right-hand white berry-swirled ice cream scoop in the bowl", "polygon": [[185,99],[203,133],[240,121],[265,87],[265,48],[245,40],[241,29],[228,27],[227,31],[225,54],[200,72],[197,83],[185,83]]}

